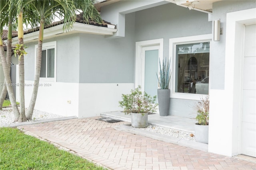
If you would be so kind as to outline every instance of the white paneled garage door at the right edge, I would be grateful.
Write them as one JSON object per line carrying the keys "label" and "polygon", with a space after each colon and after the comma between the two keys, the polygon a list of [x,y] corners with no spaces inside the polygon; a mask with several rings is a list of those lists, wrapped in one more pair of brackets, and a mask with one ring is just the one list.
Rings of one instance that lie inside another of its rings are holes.
{"label": "white paneled garage door at the right edge", "polygon": [[256,157],[256,24],[245,26],[242,154]]}

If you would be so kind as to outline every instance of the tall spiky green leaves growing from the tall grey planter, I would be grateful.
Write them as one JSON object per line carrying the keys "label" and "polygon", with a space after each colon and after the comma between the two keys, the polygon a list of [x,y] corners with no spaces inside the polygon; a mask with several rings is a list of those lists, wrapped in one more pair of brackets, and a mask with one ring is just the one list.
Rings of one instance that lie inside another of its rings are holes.
{"label": "tall spiky green leaves growing from the tall grey planter", "polygon": [[160,66],[160,75],[159,75],[160,77],[156,73],[158,83],[161,89],[168,89],[169,83],[171,80],[171,75],[172,75],[172,72],[170,70],[170,61],[168,60],[166,63],[166,58],[165,58],[165,62],[163,59],[162,66],[161,66],[161,62],[159,59],[159,66]]}

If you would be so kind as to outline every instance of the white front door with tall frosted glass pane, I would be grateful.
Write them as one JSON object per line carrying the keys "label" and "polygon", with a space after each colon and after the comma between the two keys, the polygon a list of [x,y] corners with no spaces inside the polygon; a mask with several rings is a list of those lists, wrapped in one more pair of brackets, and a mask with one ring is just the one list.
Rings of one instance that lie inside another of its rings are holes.
{"label": "white front door with tall frosted glass pane", "polygon": [[157,96],[159,66],[159,45],[142,47],[142,91]]}

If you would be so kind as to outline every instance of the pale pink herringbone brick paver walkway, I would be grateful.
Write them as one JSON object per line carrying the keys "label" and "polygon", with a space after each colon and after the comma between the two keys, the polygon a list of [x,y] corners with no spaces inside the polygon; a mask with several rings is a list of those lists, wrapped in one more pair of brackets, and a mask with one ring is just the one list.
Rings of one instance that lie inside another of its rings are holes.
{"label": "pale pink herringbone brick paver walkway", "polygon": [[95,119],[70,119],[22,128],[114,170],[256,170],[252,162],[114,129],[115,125],[127,122]]}

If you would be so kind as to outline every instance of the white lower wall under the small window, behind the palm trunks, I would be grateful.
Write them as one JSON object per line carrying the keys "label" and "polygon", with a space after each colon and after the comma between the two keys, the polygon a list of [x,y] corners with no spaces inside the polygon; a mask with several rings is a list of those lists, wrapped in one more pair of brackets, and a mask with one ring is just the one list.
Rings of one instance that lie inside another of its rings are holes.
{"label": "white lower wall under the small window, behind the palm trunks", "polygon": [[[25,84],[25,107],[28,107],[34,81],[25,81]],[[38,87],[35,109],[63,116],[78,117],[78,83],[40,81],[40,84],[42,86]],[[17,87],[17,101],[20,100],[19,96]]]}

